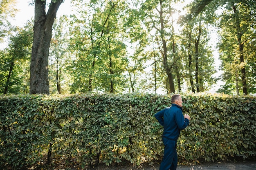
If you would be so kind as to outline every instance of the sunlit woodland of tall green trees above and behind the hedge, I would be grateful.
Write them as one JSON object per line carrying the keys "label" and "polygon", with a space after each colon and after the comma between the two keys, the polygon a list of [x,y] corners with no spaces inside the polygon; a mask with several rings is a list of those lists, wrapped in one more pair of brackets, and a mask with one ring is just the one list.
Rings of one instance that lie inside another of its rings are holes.
{"label": "sunlit woodland of tall green trees above and behind the hedge", "polygon": [[[76,14],[55,21],[62,1],[45,2],[31,1],[49,9],[23,27],[9,22],[16,1],[0,2],[0,94],[204,92],[217,81],[220,93],[256,92],[255,0],[72,0]],[[42,16],[53,23],[45,46]]]}

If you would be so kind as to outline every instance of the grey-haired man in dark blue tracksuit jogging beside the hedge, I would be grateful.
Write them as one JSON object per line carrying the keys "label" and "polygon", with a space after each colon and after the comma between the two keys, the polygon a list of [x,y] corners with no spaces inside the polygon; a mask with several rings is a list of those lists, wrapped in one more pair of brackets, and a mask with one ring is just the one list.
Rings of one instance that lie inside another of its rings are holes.
{"label": "grey-haired man in dark blue tracksuit jogging beside the hedge", "polygon": [[171,97],[171,106],[167,107],[155,114],[155,118],[164,126],[163,143],[164,143],[164,158],[159,170],[176,170],[177,157],[177,139],[180,135],[180,130],[189,125],[190,116],[182,113],[182,97],[173,95]]}

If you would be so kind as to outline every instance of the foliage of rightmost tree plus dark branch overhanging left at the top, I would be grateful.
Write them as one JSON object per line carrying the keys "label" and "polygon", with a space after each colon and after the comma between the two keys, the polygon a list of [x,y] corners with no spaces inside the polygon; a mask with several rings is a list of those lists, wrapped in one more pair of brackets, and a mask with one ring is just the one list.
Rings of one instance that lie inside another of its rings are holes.
{"label": "foliage of rightmost tree plus dark branch overhanging left at the top", "polygon": [[[217,5],[218,4],[218,5]],[[218,20],[218,43],[223,71],[218,92],[226,94],[255,93],[255,3],[243,0],[195,0],[190,16],[206,14],[207,21]]]}

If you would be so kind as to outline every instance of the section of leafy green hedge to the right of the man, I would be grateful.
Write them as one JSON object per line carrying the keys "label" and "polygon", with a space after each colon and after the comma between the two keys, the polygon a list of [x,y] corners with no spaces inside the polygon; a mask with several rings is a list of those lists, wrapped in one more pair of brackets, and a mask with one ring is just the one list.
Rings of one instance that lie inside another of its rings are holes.
{"label": "section of leafy green hedge to the right of the man", "polygon": [[191,122],[180,138],[180,156],[187,161],[216,161],[255,155],[255,97],[184,98]]}

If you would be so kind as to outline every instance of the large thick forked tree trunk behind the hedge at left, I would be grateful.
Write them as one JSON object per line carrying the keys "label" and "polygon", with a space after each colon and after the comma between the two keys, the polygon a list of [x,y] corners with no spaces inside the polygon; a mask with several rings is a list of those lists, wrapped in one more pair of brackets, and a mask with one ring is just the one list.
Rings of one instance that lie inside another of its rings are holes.
{"label": "large thick forked tree trunk behind the hedge at left", "polygon": [[35,0],[34,40],[30,63],[30,94],[49,94],[48,57],[52,25],[63,0],[51,2],[47,14],[46,0]]}

